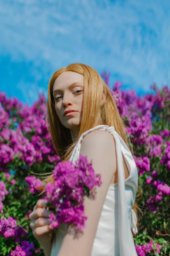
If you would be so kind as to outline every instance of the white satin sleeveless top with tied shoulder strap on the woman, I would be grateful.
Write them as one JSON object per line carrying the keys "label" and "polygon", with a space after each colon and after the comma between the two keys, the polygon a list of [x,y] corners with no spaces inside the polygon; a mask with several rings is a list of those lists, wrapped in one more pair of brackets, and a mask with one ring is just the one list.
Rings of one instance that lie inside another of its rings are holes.
{"label": "white satin sleeveless top with tied shoulder strap on the woman", "polygon": [[[75,164],[80,154],[82,139],[93,130],[106,130],[115,138],[118,183],[109,186],[103,209],[98,222],[91,256],[137,256],[132,231],[136,234],[136,214],[132,209],[138,186],[138,173],[135,160],[119,134],[113,126],[98,125],[81,134],[70,161]],[[125,158],[129,177],[124,179],[122,153]],[[62,223],[54,230],[50,256],[57,256],[61,247],[67,225]]]}

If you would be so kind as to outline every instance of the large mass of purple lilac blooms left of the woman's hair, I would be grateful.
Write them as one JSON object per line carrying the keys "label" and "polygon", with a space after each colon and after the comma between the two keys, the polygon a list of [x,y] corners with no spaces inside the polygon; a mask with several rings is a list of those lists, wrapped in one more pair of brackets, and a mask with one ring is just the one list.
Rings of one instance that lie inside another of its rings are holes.
{"label": "large mass of purple lilac blooms left of the woman's hair", "polygon": [[[43,95],[39,98],[32,107],[28,107],[0,93],[0,171],[7,171],[15,160],[25,162],[27,166],[60,160],[47,132],[46,99]],[[14,112],[16,117],[11,116]],[[11,125],[15,128],[10,128]],[[25,135],[30,132],[34,135],[29,140]]]}

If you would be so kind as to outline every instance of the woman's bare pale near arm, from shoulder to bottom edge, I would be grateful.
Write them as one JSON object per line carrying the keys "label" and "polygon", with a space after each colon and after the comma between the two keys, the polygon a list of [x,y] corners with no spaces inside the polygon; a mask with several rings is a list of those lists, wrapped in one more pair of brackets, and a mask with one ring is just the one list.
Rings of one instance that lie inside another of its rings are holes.
{"label": "woman's bare pale near arm, from shoulder to bottom edge", "polygon": [[[90,256],[98,222],[111,179],[116,172],[116,148],[113,136],[104,130],[88,133],[81,143],[80,154],[92,160],[96,174],[101,174],[102,185],[96,187],[95,199],[85,197],[84,212],[88,219],[83,234],[74,238],[67,230],[57,256]],[[68,227],[69,228],[69,227]]]}

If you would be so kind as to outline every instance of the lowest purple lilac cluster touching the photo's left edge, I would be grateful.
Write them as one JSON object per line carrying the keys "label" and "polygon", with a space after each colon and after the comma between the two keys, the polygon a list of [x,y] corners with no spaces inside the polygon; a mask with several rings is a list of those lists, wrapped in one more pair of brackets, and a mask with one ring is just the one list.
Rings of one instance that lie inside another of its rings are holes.
{"label": "lowest purple lilac cluster touching the photo's left edge", "polygon": [[16,220],[12,217],[0,219],[0,235],[5,238],[14,237],[16,243],[19,243],[21,237],[27,237],[27,233],[22,227],[17,226]]}

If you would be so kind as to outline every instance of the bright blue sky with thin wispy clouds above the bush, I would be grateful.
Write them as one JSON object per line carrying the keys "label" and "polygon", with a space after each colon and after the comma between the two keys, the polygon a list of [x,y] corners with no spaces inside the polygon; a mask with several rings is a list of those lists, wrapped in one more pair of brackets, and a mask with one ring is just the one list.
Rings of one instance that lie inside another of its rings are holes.
{"label": "bright blue sky with thin wispy clouds above the bush", "polygon": [[74,62],[109,71],[111,88],[170,87],[169,17],[169,0],[0,1],[0,91],[30,105]]}

